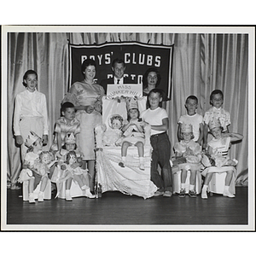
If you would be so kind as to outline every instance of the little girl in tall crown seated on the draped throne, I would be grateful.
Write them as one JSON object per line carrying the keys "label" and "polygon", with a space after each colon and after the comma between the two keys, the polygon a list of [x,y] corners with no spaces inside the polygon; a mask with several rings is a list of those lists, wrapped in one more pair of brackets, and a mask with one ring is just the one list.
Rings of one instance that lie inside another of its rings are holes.
{"label": "little girl in tall crown seated on the draped throne", "polygon": [[119,162],[119,166],[125,167],[125,160],[127,155],[127,149],[131,146],[136,146],[139,156],[139,168],[144,170],[144,143],[145,143],[145,134],[144,134],[144,125],[143,119],[140,119],[137,99],[128,98],[126,102],[127,112],[128,112],[128,123],[123,127],[123,139],[122,139],[122,148],[121,156],[122,160]]}

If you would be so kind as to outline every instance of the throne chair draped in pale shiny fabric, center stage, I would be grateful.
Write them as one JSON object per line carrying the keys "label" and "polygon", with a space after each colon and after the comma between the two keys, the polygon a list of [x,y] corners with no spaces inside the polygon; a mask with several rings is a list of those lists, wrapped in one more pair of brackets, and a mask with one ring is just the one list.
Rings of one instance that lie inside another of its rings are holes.
{"label": "throne chair draped in pale shiny fabric, center stage", "polygon": [[[147,98],[137,100],[140,113],[146,109]],[[151,145],[150,125],[144,127],[144,170],[139,168],[137,147],[128,148],[125,166],[119,166],[121,162],[121,143],[108,144],[104,136],[111,130],[110,119],[113,114],[119,114],[127,119],[126,100],[102,99],[102,125],[98,125],[96,132],[96,183],[101,185],[102,193],[106,191],[120,191],[125,195],[138,195],[144,199],[154,195],[157,190],[150,181]]]}

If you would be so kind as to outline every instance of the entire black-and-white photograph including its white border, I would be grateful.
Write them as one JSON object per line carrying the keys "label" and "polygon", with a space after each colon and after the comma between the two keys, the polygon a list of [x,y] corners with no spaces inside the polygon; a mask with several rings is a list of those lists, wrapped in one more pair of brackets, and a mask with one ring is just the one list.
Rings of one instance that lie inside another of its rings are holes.
{"label": "entire black-and-white photograph including its white border", "polygon": [[3,26],[2,230],[254,230],[254,32]]}

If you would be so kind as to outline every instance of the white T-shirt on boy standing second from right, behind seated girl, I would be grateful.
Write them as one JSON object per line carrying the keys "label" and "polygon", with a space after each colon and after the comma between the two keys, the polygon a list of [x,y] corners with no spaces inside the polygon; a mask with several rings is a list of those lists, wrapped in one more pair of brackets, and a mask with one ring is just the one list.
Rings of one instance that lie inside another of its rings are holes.
{"label": "white T-shirt on boy standing second from right, behind seated girl", "polygon": [[184,114],[182,115],[178,121],[178,124],[189,124],[193,127],[194,141],[196,142],[200,137],[200,124],[203,123],[203,117],[199,113],[195,113],[193,115]]}

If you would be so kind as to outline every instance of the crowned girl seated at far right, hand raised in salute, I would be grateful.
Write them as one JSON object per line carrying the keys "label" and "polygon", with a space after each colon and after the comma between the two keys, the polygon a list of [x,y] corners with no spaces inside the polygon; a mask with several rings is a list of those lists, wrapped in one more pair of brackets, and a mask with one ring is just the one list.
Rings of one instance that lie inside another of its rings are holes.
{"label": "crowned girl seated at far right, hand raised in salute", "polygon": [[[207,166],[210,164],[203,172],[202,175],[205,176],[205,182],[201,191],[201,198],[207,199],[207,189],[208,185],[212,179],[214,172],[226,172],[224,184],[224,196],[235,197],[235,195],[230,193],[230,183],[235,172],[235,167],[237,160],[230,160],[228,153],[231,143],[241,141],[243,136],[239,133],[223,133],[222,126],[220,125],[219,119],[212,119],[208,123],[209,130],[212,133],[212,141],[207,145],[208,154],[210,154],[210,159],[207,161],[207,155],[204,155],[202,163]],[[218,166],[216,166],[218,162]]]}

